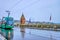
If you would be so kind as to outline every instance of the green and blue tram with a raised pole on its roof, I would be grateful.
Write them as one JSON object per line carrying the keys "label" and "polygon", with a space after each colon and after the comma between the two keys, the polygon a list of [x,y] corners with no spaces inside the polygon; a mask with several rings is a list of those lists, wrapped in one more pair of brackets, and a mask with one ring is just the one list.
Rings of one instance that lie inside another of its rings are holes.
{"label": "green and blue tram with a raised pole on its roof", "polygon": [[13,17],[9,17],[10,13],[8,12],[8,16],[7,17],[3,17],[2,18],[2,23],[1,23],[1,28],[5,28],[5,29],[12,29],[14,26],[14,19]]}

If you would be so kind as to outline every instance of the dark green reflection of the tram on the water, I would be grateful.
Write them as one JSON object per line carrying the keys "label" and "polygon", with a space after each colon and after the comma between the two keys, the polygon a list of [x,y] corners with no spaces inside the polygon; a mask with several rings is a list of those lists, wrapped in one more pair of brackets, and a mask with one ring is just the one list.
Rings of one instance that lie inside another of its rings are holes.
{"label": "dark green reflection of the tram on the water", "polygon": [[13,39],[13,29],[0,29],[1,34],[7,39],[12,40]]}

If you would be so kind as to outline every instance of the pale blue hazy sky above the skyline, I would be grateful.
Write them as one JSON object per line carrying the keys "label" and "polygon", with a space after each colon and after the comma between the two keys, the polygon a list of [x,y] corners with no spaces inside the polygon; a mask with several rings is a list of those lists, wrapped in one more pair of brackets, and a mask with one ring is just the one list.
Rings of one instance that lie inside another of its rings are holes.
{"label": "pale blue hazy sky above the skyline", "polygon": [[7,16],[6,10],[15,20],[22,13],[26,20],[60,23],[60,0],[0,0],[0,19]]}

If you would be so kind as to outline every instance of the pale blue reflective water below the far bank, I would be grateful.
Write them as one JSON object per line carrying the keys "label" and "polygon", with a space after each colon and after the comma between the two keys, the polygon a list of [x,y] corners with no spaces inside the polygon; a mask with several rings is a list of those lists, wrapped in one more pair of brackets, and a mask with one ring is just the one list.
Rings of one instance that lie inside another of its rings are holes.
{"label": "pale blue reflective water below the far bank", "polygon": [[14,27],[10,30],[0,29],[0,33],[7,40],[60,40],[60,31]]}

